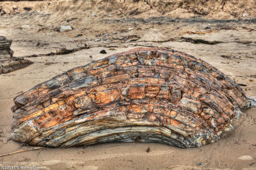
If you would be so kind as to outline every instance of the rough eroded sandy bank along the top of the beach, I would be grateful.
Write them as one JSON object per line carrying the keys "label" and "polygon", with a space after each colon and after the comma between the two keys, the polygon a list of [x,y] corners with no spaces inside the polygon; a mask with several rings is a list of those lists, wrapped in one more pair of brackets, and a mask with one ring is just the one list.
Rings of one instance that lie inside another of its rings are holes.
{"label": "rough eroded sandy bank along the top of the beach", "polygon": [[[156,10],[161,15],[169,17],[205,17],[216,19],[254,18],[256,16],[255,0],[45,0],[45,1],[4,1],[0,4],[1,15],[24,13],[28,11],[42,11],[70,15],[76,13],[81,16],[108,16],[116,17],[136,16],[150,10]],[[141,17],[154,17],[156,13],[148,13]]]}

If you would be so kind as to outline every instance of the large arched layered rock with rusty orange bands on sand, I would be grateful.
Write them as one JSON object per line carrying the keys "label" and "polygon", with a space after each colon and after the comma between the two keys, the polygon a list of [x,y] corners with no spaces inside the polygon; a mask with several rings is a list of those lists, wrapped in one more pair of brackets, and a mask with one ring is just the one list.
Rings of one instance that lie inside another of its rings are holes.
{"label": "large arched layered rock with rusty orange bands on sand", "polygon": [[203,60],[135,48],[76,67],[14,99],[10,138],[69,147],[157,142],[214,143],[250,108],[234,81]]}

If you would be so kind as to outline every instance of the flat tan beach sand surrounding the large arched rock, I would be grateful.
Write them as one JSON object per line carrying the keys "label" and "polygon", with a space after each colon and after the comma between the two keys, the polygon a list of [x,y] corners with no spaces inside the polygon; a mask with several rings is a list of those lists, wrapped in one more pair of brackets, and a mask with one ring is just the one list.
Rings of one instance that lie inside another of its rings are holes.
{"label": "flat tan beach sand surrounding the large arched rock", "polygon": [[[81,1],[79,2],[81,3]],[[248,2],[253,4],[254,1]],[[8,1],[1,3],[0,6],[7,8],[8,5],[12,4],[20,9],[24,6],[31,6],[36,9],[38,8],[36,6],[42,6],[45,9],[44,3],[13,3]],[[67,2],[60,1],[60,3],[62,6],[56,4],[55,7],[58,6],[58,9],[62,9],[68,6]],[[140,3],[136,5],[141,5],[140,8],[143,8]],[[8,133],[12,124],[13,113],[10,107],[13,105],[13,97],[42,81],[49,80],[56,74],[72,67],[87,64],[90,62],[90,55],[97,60],[113,53],[129,50],[134,46],[169,47],[204,59],[237,83],[247,85],[243,87],[247,96],[256,96],[255,21],[228,22],[224,20],[220,22],[202,18],[199,18],[198,21],[196,21],[197,18],[189,18],[188,20],[151,18],[158,15],[159,11],[157,10],[148,11],[145,16],[139,14],[139,18],[142,17],[143,20],[138,19],[138,16],[131,19],[128,17],[120,19],[116,16],[113,18],[104,17],[103,14],[106,11],[102,14],[99,8],[97,8],[99,10],[98,17],[92,17],[93,11],[90,12],[90,16],[88,14],[77,16],[77,13],[72,13],[70,9],[61,14],[60,9],[54,13],[56,8],[53,5],[50,7],[47,12],[50,13],[52,10],[52,14],[49,15],[45,14],[47,13],[45,11],[32,10],[27,13],[21,11],[20,14],[9,17],[0,17],[0,35],[13,40],[11,48],[14,51],[14,56],[54,52],[60,49],[61,45],[67,48],[77,48],[84,46],[84,43],[87,45],[108,43],[108,41],[93,41],[96,38],[105,38],[106,34],[109,34],[108,38],[112,40],[110,45],[116,46],[115,50],[100,46],[67,55],[29,57],[27,59],[34,62],[31,66],[12,73],[1,74],[0,132],[3,130],[3,133],[0,133],[0,155],[31,148],[31,146],[24,146],[8,140]],[[76,9],[74,6],[73,8]],[[88,8],[91,7],[88,6]],[[84,17],[85,15],[87,17]],[[103,17],[99,17],[99,15]],[[67,19],[73,17],[77,17],[77,19],[67,22]],[[62,20],[65,21],[61,22]],[[148,32],[150,32],[153,22],[155,23],[154,29],[157,31],[151,34],[159,38],[158,41],[165,41],[166,37],[175,40],[164,43],[150,42],[152,39],[150,39],[150,34],[148,36]],[[21,29],[21,25],[25,24],[28,24],[29,28]],[[60,27],[60,25],[71,25],[74,30],[69,32],[52,30],[54,27]],[[43,27],[45,29],[42,29]],[[211,31],[205,30],[205,27],[211,27],[209,29]],[[129,28],[134,29],[129,30]],[[39,31],[40,29],[42,31]],[[188,32],[184,33],[186,31],[203,33],[191,33],[189,35]],[[205,31],[209,32],[204,34]],[[76,37],[79,33],[83,36]],[[138,39],[138,41],[128,40],[122,41],[122,43],[113,43],[113,41],[119,41],[115,38],[129,36],[134,37],[131,39]],[[180,39],[182,36],[207,41],[223,41],[224,43],[216,45],[194,44],[183,42]],[[105,49],[107,54],[100,54],[102,49]],[[221,57],[221,55],[229,56],[229,58]],[[234,120],[233,125],[235,130],[223,134],[223,139],[201,148],[180,149],[157,143],[109,143],[87,146],[86,148],[49,148],[0,157],[0,168],[1,166],[41,166],[43,169],[256,169],[256,108],[245,111],[239,120]],[[147,153],[148,147],[150,152]],[[203,164],[198,166],[201,162]]]}

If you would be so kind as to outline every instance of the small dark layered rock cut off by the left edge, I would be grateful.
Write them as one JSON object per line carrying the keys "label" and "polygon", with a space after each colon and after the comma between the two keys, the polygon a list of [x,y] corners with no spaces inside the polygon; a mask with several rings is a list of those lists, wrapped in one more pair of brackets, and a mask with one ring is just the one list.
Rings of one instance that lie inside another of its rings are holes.
{"label": "small dark layered rock cut off by the left edge", "polygon": [[30,60],[13,57],[13,50],[10,48],[11,45],[12,40],[8,40],[4,36],[0,36],[0,74],[10,73],[31,64]]}

